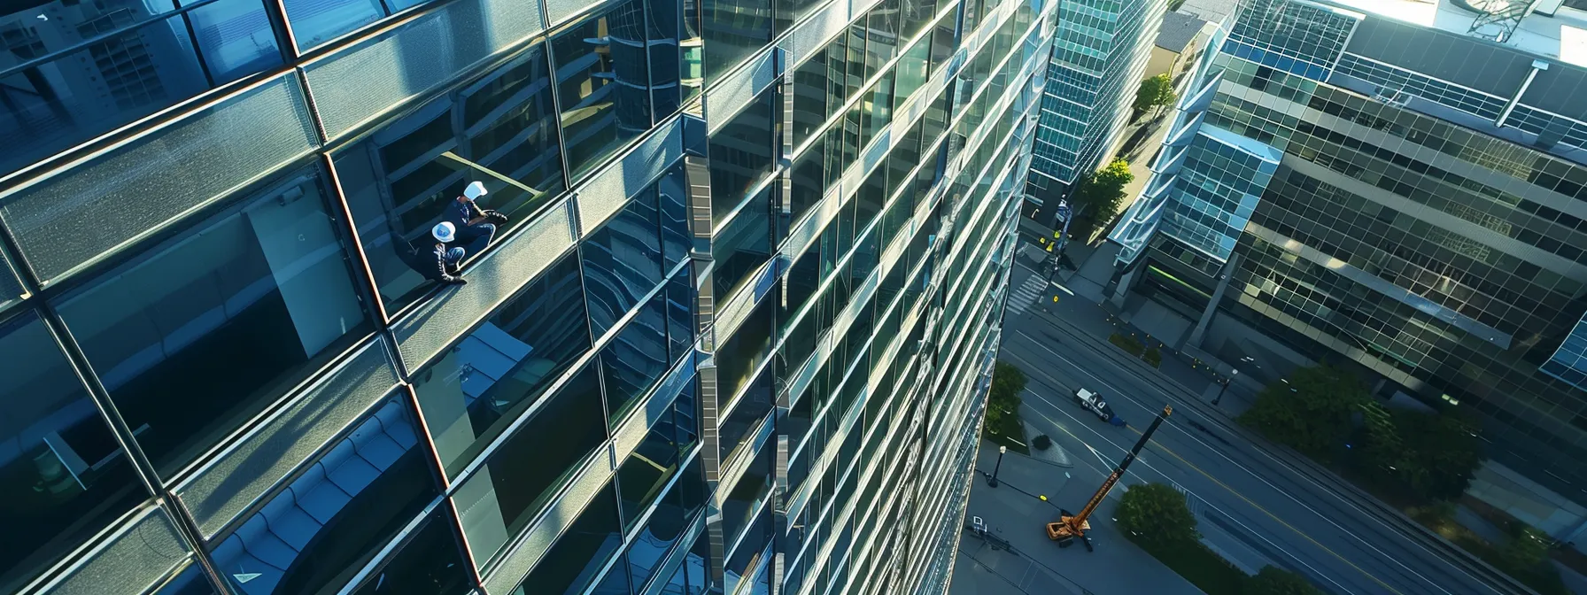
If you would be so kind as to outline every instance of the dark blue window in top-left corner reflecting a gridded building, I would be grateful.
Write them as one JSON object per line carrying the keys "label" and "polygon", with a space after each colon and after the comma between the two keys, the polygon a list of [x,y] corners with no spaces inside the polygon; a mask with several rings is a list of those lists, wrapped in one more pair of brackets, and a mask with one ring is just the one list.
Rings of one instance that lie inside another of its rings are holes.
{"label": "dark blue window in top-left corner reflecting a gridded building", "polygon": [[[170,2],[14,6],[6,10],[16,11],[14,17],[0,17],[0,36],[13,57],[0,67],[0,146],[6,148],[0,175],[209,89],[181,16],[130,27],[170,11]],[[114,32],[119,27],[129,29]]]}

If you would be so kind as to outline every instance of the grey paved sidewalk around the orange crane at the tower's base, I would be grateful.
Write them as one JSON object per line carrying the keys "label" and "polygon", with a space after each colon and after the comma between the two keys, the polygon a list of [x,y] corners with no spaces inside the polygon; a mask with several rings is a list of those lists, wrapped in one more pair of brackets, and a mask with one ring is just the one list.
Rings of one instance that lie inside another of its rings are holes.
{"label": "grey paved sidewalk around the orange crane at the tower's base", "polygon": [[1063,470],[1017,452],[1003,455],[1001,465],[997,459],[997,444],[982,441],[976,470],[990,473],[997,466],[998,487],[976,474],[965,522],[979,516],[1011,547],[993,549],[965,532],[955,566],[968,571],[954,574],[954,595],[1201,593],[1112,528],[1111,514],[1124,493],[1122,486],[1093,516],[1090,538],[1097,551],[1087,552],[1081,544],[1060,549],[1047,539],[1046,524],[1057,520],[1060,505],[1073,511],[1084,506],[1105,476],[1087,465]]}

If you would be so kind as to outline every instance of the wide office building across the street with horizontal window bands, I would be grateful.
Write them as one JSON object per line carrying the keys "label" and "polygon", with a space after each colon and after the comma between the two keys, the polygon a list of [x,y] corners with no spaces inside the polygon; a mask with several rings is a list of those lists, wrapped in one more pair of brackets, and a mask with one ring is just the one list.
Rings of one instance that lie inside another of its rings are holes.
{"label": "wide office building across the street with horizontal window bands", "polygon": [[1243,2],[1112,233],[1117,289],[1222,360],[1476,411],[1497,462],[1579,500],[1587,70],[1558,32],[1587,13],[1458,5]]}

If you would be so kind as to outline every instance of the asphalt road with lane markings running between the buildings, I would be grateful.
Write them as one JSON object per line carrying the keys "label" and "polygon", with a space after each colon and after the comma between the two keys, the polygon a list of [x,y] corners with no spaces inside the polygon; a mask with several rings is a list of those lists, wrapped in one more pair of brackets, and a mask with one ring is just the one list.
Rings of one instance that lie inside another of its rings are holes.
{"label": "asphalt road with lane markings running between the buildings", "polygon": [[[1200,395],[1106,341],[1079,335],[1039,308],[1011,316],[1005,328],[1000,359],[1030,376],[1024,400],[1041,417],[1033,422],[1060,428],[1051,436],[1076,463],[1111,470],[1163,405],[1173,405],[1174,414],[1130,476],[1179,486],[1193,508],[1227,520],[1219,528],[1249,551],[1335,593],[1511,592],[1406,535],[1393,519],[1352,501],[1333,486],[1339,479],[1266,452],[1200,403]],[[1079,409],[1070,397],[1078,387],[1101,392],[1128,427],[1108,425]]]}

